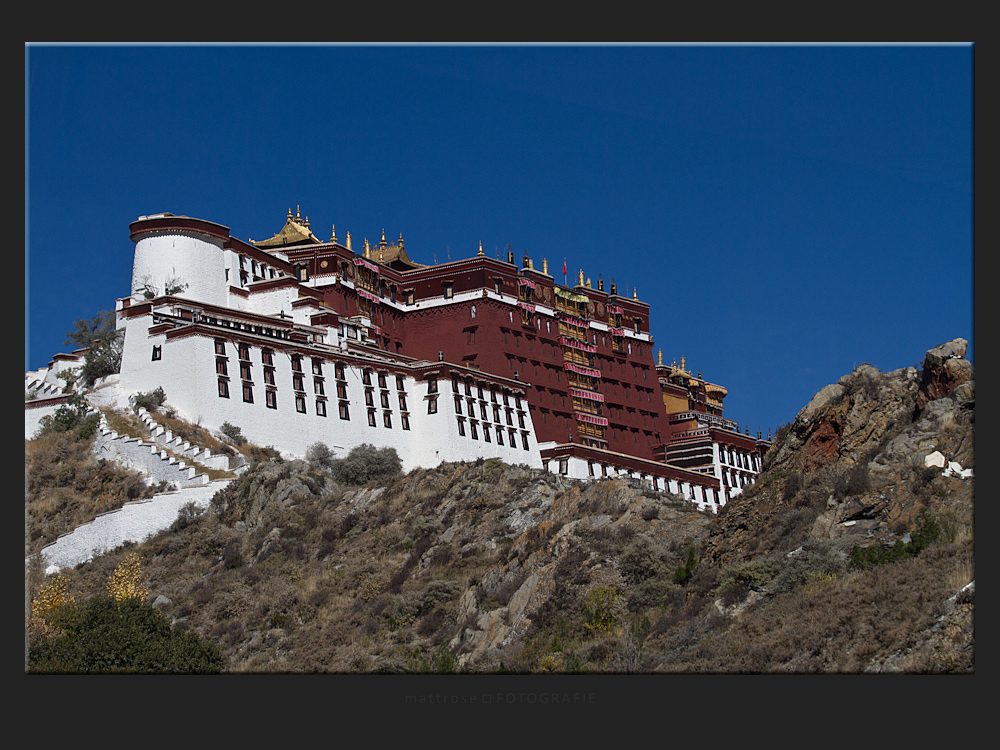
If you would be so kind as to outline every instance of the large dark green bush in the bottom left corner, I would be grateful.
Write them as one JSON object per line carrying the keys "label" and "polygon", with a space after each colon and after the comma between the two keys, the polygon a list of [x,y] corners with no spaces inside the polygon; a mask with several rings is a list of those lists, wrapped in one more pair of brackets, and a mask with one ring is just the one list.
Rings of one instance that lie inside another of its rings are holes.
{"label": "large dark green bush in the bottom left corner", "polygon": [[94,596],[84,604],[64,604],[46,619],[58,634],[31,644],[29,672],[203,674],[225,666],[214,644],[172,630],[140,599]]}

